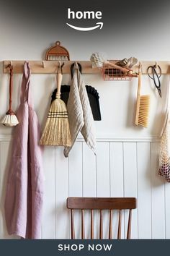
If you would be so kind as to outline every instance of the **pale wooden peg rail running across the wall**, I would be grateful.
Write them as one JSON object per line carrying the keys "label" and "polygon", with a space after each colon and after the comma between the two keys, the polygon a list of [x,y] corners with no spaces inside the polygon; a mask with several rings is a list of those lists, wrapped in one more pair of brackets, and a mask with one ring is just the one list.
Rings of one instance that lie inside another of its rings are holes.
{"label": "pale wooden peg rail running across the wall", "polygon": [[[32,74],[53,74],[57,72],[58,61],[29,61]],[[63,73],[70,74],[70,67],[74,61],[61,61],[65,63]],[[101,70],[91,67],[91,61],[77,61],[81,64],[83,74],[97,74]],[[156,63],[161,67],[162,74],[170,74],[170,61],[140,61],[142,64],[142,74],[147,74],[148,66]],[[23,72],[24,61],[4,61],[4,73],[9,73],[9,64],[13,65],[13,73],[19,74]],[[134,72],[138,72],[138,66],[133,68]]]}

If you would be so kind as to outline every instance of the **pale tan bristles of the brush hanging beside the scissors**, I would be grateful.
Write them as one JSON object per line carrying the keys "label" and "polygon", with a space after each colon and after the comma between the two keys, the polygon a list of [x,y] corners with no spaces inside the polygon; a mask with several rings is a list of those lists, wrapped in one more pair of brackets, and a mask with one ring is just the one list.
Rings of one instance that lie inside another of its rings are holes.
{"label": "pale tan bristles of the brush hanging beside the scissors", "polygon": [[143,127],[148,127],[149,108],[150,108],[150,95],[141,95],[139,114],[138,114],[138,124],[140,124]]}

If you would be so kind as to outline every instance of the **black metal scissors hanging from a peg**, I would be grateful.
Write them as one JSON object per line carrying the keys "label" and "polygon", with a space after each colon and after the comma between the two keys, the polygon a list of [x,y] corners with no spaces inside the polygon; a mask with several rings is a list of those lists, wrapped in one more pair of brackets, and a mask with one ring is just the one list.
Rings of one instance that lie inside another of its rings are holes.
{"label": "black metal scissors hanging from a peg", "polygon": [[[156,72],[156,68],[158,67],[159,69],[159,75]],[[148,76],[153,80],[154,85],[156,87],[156,89],[158,90],[158,94],[160,97],[162,97],[162,93],[161,93],[161,82],[159,80],[159,78],[161,77],[161,67],[157,65],[153,65],[153,66],[149,66],[147,69],[148,72]],[[151,69],[151,75],[149,74],[149,69]]]}

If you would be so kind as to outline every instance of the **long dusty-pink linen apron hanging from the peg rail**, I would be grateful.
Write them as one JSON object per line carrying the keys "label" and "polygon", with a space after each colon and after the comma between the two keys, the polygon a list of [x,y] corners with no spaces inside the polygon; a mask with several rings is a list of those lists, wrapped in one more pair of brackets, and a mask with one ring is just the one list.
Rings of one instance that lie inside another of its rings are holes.
{"label": "long dusty-pink linen apron hanging from the peg rail", "polygon": [[30,66],[24,64],[19,124],[14,129],[12,158],[6,187],[5,218],[9,234],[40,239],[43,174],[40,125],[32,108]]}

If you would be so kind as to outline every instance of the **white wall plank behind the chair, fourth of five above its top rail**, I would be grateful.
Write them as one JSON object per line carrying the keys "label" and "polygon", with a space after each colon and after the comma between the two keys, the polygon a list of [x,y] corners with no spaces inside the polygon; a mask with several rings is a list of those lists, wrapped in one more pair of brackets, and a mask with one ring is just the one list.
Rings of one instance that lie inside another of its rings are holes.
{"label": "white wall plank behind the chair, fourth of five above its top rail", "polygon": [[[122,142],[110,142],[110,196],[123,197],[123,152]],[[113,213],[113,238],[117,238],[118,212]],[[122,211],[122,237],[124,237],[124,211]]]}

